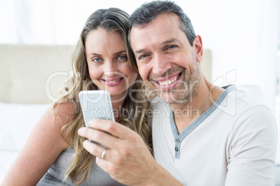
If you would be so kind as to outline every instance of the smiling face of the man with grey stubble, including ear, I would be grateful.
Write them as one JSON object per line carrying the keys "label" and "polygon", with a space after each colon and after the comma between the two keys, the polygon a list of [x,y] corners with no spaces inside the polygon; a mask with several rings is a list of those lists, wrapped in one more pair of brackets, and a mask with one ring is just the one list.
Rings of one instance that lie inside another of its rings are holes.
{"label": "smiling face of the man with grey stubble, including ear", "polygon": [[164,13],[144,28],[132,27],[130,41],[150,90],[169,104],[192,101],[201,78],[201,37],[196,36],[192,47],[178,15]]}

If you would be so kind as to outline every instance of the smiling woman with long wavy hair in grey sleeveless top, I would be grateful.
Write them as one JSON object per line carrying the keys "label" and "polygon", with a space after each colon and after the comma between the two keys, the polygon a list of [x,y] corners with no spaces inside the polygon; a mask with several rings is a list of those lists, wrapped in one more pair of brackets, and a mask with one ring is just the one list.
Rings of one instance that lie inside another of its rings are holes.
{"label": "smiling woman with long wavy hair in grey sleeveless top", "polygon": [[127,42],[127,18],[118,8],[97,10],[88,18],[73,53],[73,77],[38,121],[2,185],[120,185],[83,148],[86,139],[77,133],[85,126],[81,90],[107,90],[118,112],[115,120],[139,133],[152,152],[146,115],[136,112],[148,108],[143,91],[127,94],[143,90]]}

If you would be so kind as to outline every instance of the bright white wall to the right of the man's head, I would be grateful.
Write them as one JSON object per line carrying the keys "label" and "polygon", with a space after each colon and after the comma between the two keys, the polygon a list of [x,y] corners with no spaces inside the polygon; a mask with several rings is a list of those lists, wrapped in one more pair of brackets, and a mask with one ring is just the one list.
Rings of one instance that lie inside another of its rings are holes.
{"label": "bright white wall to the right of the man's head", "polygon": [[204,47],[212,50],[214,83],[235,71],[233,83],[259,85],[274,112],[280,1],[187,1],[184,9]]}

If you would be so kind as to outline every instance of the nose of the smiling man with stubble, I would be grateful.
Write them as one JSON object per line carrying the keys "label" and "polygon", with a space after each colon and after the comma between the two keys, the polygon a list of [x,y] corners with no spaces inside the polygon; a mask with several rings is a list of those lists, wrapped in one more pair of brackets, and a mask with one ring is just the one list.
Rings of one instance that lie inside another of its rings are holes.
{"label": "nose of the smiling man with stubble", "polygon": [[153,74],[161,76],[168,69],[171,69],[171,62],[164,56],[164,53],[155,53],[153,58]]}

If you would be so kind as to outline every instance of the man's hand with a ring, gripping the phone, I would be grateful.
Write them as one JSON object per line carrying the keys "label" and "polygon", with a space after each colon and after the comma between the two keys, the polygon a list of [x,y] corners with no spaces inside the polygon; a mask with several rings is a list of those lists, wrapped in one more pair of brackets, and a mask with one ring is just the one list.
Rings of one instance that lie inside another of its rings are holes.
{"label": "man's hand with a ring, gripping the phone", "polygon": [[84,148],[97,157],[98,166],[112,178],[125,185],[159,183],[155,173],[160,172],[162,167],[155,162],[146,144],[137,133],[117,122],[104,119],[93,119],[88,125],[91,128],[81,128],[79,135],[107,146],[109,149],[106,150],[102,159],[102,153],[105,150],[102,146],[86,140]]}

